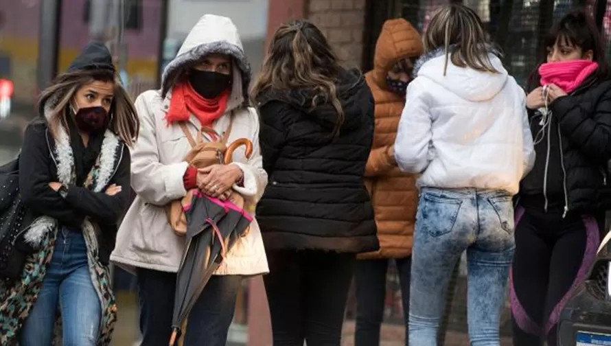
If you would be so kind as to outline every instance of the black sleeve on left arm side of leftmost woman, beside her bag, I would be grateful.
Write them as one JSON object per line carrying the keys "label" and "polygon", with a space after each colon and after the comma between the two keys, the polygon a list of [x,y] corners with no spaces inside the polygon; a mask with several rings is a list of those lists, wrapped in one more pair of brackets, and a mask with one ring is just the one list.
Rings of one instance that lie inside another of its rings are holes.
{"label": "black sleeve on left arm side of leftmost woman, beside her bag", "polygon": [[50,216],[71,227],[80,227],[84,214],[67,203],[49,183],[57,181],[51,176],[54,165],[47,145],[47,126],[32,123],[25,129],[19,156],[19,189],[21,199],[35,214]]}

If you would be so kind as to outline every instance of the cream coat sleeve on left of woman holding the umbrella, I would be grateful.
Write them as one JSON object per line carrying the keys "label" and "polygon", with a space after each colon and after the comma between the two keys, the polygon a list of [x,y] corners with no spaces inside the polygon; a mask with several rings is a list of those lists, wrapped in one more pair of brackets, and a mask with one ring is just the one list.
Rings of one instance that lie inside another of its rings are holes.
{"label": "cream coat sleeve on left of woman holding the umbrella", "polygon": [[166,205],[187,194],[183,184],[183,175],[188,164],[179,162],[164,165],[159,162],[159,143],[155,135],[154,112],[149,109],[149,106],[161,106],[161,103],[152,102],[151,93],[157,93],[157,91],[146,91],[139,95],[135,102],[136,112],[140,119],[140,132],[131,150],[132,189],[152,205]]}

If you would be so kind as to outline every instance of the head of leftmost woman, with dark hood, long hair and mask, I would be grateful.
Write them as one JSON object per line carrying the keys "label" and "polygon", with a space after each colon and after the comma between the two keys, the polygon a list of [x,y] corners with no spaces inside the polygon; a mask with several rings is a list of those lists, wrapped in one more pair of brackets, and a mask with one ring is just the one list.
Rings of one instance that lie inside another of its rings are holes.
{"label": "head of leftmost woman, with dark hood, long hair and mask", "polygon": [[135,141],[136,109],[115,72],[104,43],[92,42],[43,90],[38,106],[54,137],[73,122],[84,132],[110,129],[128,145]]}

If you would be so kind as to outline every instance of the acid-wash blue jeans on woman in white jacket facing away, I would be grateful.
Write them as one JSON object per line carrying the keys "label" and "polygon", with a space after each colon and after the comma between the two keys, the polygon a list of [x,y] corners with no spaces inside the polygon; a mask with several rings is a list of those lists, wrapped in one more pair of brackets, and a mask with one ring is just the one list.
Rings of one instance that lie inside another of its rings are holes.
{"label": "acid-wash blue jeans on woman in white jacket facing away", "polygon": [[448,281],[465,250],[471,345],[500,345],[500,311],[514,247],[514,208],[507,192],[423,188],[412,253],[410,345],[437,345]]}

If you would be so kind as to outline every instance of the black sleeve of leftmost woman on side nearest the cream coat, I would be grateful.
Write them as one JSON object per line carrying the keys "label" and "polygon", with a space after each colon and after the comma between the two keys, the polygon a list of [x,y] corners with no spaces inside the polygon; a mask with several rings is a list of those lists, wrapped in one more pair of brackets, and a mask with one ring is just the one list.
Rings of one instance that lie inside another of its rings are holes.
{"label": "black sleeve of leftmost woman on side nearest the cream coat", "polygon": [[102,224],[116,224],[126,210],[130,194],[130,152],[123,148],[123,156],[117,172],[108,185],[121,186],[121,192],[108,196],[104,191],[93,192],[84,187],[68,187],[67,202],[83,214],[94,218]]}

